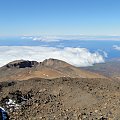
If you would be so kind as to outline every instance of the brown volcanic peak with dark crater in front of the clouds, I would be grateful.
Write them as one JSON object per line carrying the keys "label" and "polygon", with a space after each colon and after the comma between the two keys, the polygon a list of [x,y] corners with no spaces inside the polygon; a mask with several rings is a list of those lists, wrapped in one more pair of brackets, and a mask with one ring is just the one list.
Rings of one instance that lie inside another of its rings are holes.
{"label": "brown volcanic peak with dark crater in front of the clouds", "polygon": [[103,78],[102,75],[81,70],[57,59],[46,59],[43,62],[16,60],[0,68],[1,81],[60,77]]}

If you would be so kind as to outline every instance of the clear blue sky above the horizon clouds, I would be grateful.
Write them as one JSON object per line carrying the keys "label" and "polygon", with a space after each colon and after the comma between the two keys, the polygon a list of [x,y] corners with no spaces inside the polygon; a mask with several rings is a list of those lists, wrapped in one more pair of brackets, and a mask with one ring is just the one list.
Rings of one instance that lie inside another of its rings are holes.
{"label": "clear blue sky above the horizon clouds", "polygon": [[120,0],[0,0],[0,35],[120,35]]}

